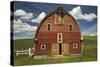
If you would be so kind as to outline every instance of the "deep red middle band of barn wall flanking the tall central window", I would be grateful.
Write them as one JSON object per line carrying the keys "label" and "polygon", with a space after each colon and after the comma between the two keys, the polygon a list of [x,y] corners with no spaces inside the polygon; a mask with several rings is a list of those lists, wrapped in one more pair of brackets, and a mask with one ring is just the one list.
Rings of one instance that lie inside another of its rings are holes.
{"label": "deep red middle band of barn wall flanking the tall central window", "polygon": [[[45,43],[57,43],[57,33],[59,32],[43,32],[39,31],[37,35],[38,42]],[[67,43],[68,40],[80,40],[80,32],[60,32],[62,33],[63,43]]]}

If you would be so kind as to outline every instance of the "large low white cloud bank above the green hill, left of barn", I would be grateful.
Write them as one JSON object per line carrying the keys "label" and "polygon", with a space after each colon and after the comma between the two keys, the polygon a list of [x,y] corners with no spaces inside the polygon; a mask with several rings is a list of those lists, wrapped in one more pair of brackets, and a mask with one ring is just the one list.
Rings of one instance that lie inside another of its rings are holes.
{"label": "large low white cloud bank above the green hill, left of barn", "polygon": [[37,26],[30,26],[21,19],[13,20],[14,39],[34,38]]}

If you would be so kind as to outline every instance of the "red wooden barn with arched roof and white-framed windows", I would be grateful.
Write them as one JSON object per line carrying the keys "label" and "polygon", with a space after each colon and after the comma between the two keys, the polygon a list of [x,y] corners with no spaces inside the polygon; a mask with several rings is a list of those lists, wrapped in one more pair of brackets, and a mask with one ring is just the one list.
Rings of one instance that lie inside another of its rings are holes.
{"label": "red wooden barn with arched roof and white-framed windows", "polygon": [[82,54],[81,32],[77,21],[63,8],[48,14],[35,35],[35,55]]}

